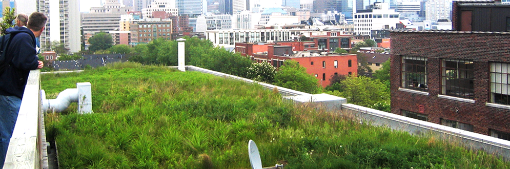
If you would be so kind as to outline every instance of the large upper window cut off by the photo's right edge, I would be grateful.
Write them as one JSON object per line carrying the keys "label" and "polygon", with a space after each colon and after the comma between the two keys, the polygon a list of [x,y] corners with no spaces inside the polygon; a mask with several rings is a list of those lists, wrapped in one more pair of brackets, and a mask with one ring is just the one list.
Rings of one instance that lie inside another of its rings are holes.
{"label": "large upper window cut off by the photo's right edge", "polygon": [[491,63],[491,102],[510,104],[508,86],[510,85],[510,64]]}

